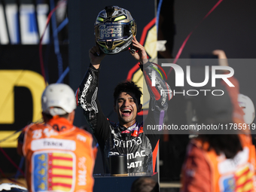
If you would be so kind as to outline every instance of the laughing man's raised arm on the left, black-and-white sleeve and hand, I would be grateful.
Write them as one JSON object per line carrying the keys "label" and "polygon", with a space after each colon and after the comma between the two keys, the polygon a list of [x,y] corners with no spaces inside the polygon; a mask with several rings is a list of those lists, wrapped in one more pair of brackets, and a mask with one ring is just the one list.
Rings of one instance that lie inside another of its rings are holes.
{"label": "laughing man's raised arm on the left, black-and-white sleeve and hand", "polygon": [[104,145],[108,138],[109,129],[104,129],[108,123],[97,99],[99,85],[99,69],[105,53],[100,52],[98,46],[89,50],[90,66],[76,91],[77,105],[84,109],[84,117],[93,130],[99,145]]}

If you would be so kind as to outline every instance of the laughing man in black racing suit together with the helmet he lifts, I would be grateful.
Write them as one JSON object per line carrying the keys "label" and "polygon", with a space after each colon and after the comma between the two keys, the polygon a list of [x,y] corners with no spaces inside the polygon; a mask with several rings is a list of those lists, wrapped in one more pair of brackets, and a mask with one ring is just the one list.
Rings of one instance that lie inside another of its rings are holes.
{"label": "laughing man in black racing suit together with the helmet he lifts", "polygon": [[[163,80],[163,71],[148,61],[145,48],[136,40],[136,23],[130,12],[117,6],[108,6],[96,18],[95,35],[97,45],[89,51],[90,66],[77,90],[78,105],[84,109],[84,116],[90,124],[104,158],[105,172],[109,172],[109,156],[126,154],[128,172],[154,172],[159,135],[144,130],[146,125],[163,125],[168,108],[170,90]],[[133,81],[125,81],[114,89],[114,111],[119,123],[108,120],[97,99],[100,63],[106,54],[130,50],[140,62],[150,93],[148,117],[144,122],[136,121],[142,110],[142,92]],[[103,53],[102,53],[103,52]],[[151,74],[156,73],[156,86],[151,86]]]}

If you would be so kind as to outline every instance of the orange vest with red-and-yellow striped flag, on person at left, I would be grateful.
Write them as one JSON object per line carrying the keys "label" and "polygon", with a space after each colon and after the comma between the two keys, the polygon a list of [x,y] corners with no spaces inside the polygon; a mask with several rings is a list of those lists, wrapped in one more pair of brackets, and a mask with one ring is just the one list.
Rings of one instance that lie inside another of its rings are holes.
{"label": "orange vest with red-and-yellow striped flag, on person at left", "polygon": [[95,159],[90,133],[62,117],[44,124],[32,123],[24,132],[23,155],[30,192],[93,191]]}

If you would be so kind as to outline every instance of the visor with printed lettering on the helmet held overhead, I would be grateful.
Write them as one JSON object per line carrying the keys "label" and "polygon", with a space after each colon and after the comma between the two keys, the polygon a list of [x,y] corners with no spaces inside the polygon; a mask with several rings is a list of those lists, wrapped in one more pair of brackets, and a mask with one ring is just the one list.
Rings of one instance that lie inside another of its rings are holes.
{"label": "visor with printed lettering on the helmet held overhead", "polygon": [[98,41],[115,41],[130,35],[129,25],[126,23],[101,23],[95,26],[95,36]]}

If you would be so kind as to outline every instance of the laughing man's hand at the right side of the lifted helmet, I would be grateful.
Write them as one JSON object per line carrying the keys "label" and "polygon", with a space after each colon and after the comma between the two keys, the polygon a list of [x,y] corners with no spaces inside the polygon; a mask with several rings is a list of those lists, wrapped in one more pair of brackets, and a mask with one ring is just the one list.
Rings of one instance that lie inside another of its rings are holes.
{"label": "laughing man's hand at the right side of the lifted helmet", "polygon": [[133,52],[133,50],[129,51],[137,61],[139,61],[142,65],[148,62],[148,56],[145,51],[145,47],[143,47],[142,44],[139,44],[135,36],[133,36],[133,48],[136,50],[135,52]]}

